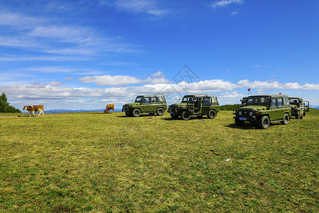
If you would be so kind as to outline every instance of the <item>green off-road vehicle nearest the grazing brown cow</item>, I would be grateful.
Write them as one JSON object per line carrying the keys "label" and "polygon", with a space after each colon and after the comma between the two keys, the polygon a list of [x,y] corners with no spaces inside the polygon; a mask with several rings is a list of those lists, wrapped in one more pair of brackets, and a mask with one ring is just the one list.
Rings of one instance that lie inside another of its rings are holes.
{"label": "green off-road vehicle nearest the grazing brown cow", "polygon": [[124,104],[122,111],[125,111],[126,116],[138,117],[142,113],[149,113],[159,116],[164,114],[167,109],[167,103],[164,95],[141,95],[136,97],[134,103]]}

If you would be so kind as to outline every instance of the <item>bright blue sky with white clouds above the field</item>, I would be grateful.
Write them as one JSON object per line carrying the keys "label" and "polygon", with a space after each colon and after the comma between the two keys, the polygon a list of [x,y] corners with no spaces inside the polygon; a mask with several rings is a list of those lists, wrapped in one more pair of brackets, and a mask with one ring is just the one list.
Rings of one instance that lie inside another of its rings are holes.
{"label": "bright blue sky with white clouds above the field", "polygon": [[2,92],[21,110],[279,92],[319,106],[319,1],[0,0]]}

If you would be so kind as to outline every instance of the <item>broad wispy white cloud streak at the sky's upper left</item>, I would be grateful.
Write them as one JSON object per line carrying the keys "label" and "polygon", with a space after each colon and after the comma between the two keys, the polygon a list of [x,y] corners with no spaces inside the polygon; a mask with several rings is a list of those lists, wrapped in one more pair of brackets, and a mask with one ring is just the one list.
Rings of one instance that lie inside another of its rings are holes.
{"label": "broad wispy white cloud streak at the sky's upper left", "polygon": [[[8,18],[7,18],[8,17]],[[50,19],[17,13],[0,15],[0,45],[56,55],[98,55],[100,53],[138,53],[138,47],[123,43],[116,35],[100,35],[94,28],[52,24]],[[10,37],[8,33],[10,32]],[[10,60],[4,59],[2,60]],[[33,58],[30,58],[33,60]]]}

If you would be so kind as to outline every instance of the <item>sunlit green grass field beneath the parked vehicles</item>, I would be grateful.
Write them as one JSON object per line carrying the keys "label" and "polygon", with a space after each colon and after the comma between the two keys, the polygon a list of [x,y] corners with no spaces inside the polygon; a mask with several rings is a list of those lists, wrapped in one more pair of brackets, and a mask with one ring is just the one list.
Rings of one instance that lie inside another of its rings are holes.
{"label": "sunlit green grass field beneath the parked vehicles", "polygon": [[1,114],[0,211],[318,212],[318,133],[315,109],[265,130],[232,111]]}

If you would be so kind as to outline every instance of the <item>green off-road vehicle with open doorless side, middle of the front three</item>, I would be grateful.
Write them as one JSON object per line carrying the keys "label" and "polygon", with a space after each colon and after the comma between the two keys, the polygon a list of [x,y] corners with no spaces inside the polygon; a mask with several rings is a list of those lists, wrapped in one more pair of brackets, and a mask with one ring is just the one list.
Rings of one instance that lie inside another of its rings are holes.
{"label": "green off-road vehicle with open doorless side, middle of the front three", "polygon": [[216,95],[211,94],[189,94],[185,95],[179,104],[169,106],[168,112],[173,119],[181,116],[181,119],[187,121],[191,116],[208,116],[208,119],[214,119],[219,111],[219,104]]}

